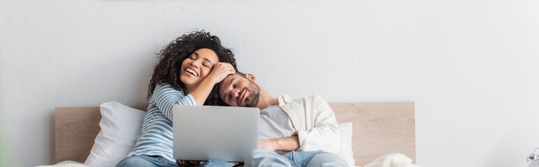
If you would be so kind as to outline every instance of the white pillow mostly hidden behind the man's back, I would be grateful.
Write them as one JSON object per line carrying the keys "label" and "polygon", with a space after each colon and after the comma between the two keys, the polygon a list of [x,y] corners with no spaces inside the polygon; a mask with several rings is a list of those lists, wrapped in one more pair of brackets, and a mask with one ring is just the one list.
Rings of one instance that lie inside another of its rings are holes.
{"label": "white pillow mostly hidden behind the man's back", "polygon": [[352,151],[352,122],[339,124],[340,132],[340,155],[349,166],[354,166],[354,151]]}

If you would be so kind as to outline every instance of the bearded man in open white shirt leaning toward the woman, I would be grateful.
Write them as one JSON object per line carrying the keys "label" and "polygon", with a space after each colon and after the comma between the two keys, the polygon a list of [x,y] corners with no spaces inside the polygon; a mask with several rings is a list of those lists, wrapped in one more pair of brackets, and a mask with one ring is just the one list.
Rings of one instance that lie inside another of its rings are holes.
{"label": "bearded man in open white shirt leaning toward the woman", "polygon": [[254,75],[241,72],[219,84],[219,97],[229,106],[260,109],[259,149],[245,157],[245,166],[348,166],[336,154],[337,121],[321,97],[274,98]]}

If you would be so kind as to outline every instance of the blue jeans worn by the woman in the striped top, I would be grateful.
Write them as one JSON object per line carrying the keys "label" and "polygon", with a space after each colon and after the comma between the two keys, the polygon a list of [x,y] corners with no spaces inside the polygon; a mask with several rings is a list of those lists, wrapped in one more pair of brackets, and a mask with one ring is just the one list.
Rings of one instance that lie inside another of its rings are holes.
{"label": "blue jeans worn by the woman in the striped top", "polygon": [[[155,166],[155,167],[179,167],[176,162],[168,161],[159,156],[147,156],[147,155],[133,155],[123,159],[116,165],[116,167],[130,167],[130,166]],[[200,164],[197,167],[217,167],[217,166],[230,166],[227,161],[209,160]]]}

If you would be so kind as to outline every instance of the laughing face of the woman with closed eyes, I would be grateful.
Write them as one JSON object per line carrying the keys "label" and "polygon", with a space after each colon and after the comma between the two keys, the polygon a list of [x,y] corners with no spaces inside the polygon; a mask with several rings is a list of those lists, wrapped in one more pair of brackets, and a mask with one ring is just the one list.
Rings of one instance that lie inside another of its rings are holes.
{"label": "laughing face of the woman with closed eyes", "polygon": [[219,58],[215,51],[207,48],[198,49],[181,63],[180,80],[187,87],[198,86],[218,62]]}

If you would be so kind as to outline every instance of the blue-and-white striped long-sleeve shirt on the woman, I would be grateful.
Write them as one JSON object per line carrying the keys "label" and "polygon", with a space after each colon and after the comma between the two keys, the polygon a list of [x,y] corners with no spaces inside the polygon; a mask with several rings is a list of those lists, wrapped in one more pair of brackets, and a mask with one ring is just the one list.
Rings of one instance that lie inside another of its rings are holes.
{"label": "blue-and-white striped long-sleeve shirt on the woman", "polygon": [[131,155],[158,155],[176,162],[172,157],[172,106],[197,105],[191,94],[164,83],[155,87],[149,102],[142,130]]}

